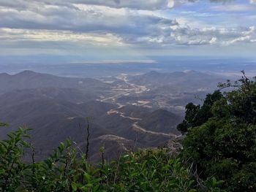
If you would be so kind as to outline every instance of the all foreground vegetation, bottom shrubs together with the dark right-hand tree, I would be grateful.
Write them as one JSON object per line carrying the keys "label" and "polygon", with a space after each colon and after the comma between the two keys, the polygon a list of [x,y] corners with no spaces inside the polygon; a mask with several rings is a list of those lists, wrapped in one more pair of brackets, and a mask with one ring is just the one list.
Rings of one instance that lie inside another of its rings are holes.
{"label": "all foreground vegetation, bottom shrubs together with the dark right-hand tree", "polygon": [[166,147],[106,162],[102,147],[102,162],[90,164],[67,139],[35,162],[29,129],[19,128],[0,141],[0,191],[256,191],[256,82],[244,75],[219,87],[235,89],[187,105],[178,155]]}

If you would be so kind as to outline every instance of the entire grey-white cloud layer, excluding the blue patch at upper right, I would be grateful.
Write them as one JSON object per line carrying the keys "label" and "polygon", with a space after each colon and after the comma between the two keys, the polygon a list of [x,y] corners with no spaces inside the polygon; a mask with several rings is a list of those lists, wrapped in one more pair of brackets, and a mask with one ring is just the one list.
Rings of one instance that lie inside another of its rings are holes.
{"label": "entire grey-white cloud layer, excluding the blue patch at upper right", "polygon": [[72,3],[60,0],[0,0],[0,46],[4,47],[9,43],[12,47],[23,45],[24,42],[31,47],[37,44],[45,46],[47,43],[57,47],[56,42],[82,47],[228,46],[255,43],[254,26],[192,27],[187,23],[179,23],[175,18],[157,15],[151,10],[140,10],[173,7],[176,2],[177,0],[73,0]]}

